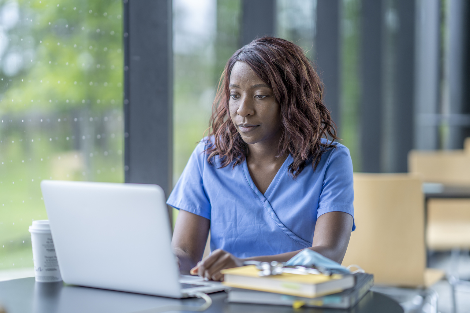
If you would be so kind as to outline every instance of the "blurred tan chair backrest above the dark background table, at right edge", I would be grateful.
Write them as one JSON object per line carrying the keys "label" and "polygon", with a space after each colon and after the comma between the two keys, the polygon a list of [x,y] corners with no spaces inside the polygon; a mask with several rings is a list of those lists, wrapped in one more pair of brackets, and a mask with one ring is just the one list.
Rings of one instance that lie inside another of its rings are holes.
{"label": "blurred tan chair backrest above the dark background table, at right edge", "polygon": [[470,137],[463,150],[411,150],[408,171],[420,174],[425,182],[470,184]]}

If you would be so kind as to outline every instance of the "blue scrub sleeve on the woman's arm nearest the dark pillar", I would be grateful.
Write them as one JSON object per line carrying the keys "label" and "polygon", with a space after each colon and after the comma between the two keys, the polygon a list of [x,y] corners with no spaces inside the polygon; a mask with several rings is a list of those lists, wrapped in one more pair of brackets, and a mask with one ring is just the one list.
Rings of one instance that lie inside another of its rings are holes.
{"label": "blue scrub sleeve on the woman's arm nearest the dark pillar", "polygon": [[206,219],[211,219],[211,204],[204,191],[203,172],[205,160],[204,139],[196,146],[188,164],[173,188],[166,204],[178,210],[185,210]]}

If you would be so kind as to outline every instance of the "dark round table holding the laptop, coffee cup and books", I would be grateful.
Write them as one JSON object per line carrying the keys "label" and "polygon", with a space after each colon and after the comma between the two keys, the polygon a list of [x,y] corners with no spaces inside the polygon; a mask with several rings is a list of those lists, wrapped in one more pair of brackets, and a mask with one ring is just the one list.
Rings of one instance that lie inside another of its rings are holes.
{"label": "dark round table holding the laptop, coffee cup and books", "polygon": [[[403,313],[401,306],[380,293],[369,291],[350,310],[301,308],[282,305],[250,305],[226,303],[227,293],[212,293],[208,313]],[[199,306],[197,298],[171,299],[130,292],[64,285],[63,282],[35,282],[34,277],[0,282],[0,303],[7,313],[132,313],[166,305]],[[158,312],[158,309],[155,310]],[[174,311],[172,311],[174,312]],[[183,312],[183,311],[180,311]],[[184,311],[187,312],[187,311]],[[151,310],[148,313],[152,313]]]}

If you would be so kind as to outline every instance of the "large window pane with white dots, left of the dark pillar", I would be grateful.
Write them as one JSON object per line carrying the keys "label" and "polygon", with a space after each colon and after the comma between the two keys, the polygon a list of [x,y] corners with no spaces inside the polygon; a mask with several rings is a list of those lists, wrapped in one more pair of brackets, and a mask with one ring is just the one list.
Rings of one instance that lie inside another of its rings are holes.
{"label": "large window pane with white dots, left of the dark pillar", "polygon": [[32,267],[43,179],[123,182],[119,0],[0,5],[0,270]]}

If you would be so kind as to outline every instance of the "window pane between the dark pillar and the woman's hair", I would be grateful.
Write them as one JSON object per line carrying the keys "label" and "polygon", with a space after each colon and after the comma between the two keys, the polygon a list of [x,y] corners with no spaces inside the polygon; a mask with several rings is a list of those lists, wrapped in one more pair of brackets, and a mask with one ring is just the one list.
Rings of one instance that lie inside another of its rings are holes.
{"label": "window pane between the dark pillar and the woman's hair", "polygon": [[209,127],[216,84],[238,49],[239,19],[239,0],[173,1],[173,184]]}

